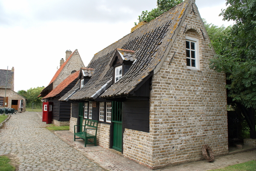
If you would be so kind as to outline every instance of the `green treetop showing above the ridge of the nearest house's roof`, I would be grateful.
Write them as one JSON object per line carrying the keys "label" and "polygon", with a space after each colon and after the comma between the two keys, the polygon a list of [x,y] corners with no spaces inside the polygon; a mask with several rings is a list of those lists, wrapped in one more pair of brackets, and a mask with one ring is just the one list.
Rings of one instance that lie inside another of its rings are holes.
{"label": "green treetop showing above the ridge of the nearest house's roof", "polygon": [[[162,15],[166,11],[169,11],[174,6],[177,6],[182,2],[183,0],[157,0],[156,9],[152,9],[151,11],[142,11],[138,18],[139,23],[142,21],[150,22],[151,20],[154,20],[156,17]],[[135,26],[137,25],[137,23],[134,24]]]}

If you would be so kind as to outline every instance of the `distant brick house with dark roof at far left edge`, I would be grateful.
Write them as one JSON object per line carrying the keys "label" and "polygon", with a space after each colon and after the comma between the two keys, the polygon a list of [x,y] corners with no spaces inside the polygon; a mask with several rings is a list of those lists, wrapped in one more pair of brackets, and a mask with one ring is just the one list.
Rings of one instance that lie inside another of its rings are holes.
{"label": "distant brick house with dark roof at far left edge", "polygon": [[0,69],[0,108],[26,111],[26,98],[14,91],[14,67],[12,70]]}

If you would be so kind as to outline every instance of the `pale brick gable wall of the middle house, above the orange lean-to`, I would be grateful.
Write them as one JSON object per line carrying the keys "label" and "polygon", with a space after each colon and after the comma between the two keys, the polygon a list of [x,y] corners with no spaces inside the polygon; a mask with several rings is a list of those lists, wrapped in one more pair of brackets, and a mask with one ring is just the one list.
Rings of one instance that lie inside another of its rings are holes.
{"label": "pale brick gable wall of the middle house, above the orange lean-to", "polygon": [[84,67],[84,63],[81,60],[81,57],[78,53],[78,51],[74,51],[73,56],[70,58],[70,60],[66,63],[60,74],[58,75],[57,79],[53,83],[53,88],[55,88],[59,83],[61,83],[63,80],[65,80],[72,71],[78,71],[81,67]]}

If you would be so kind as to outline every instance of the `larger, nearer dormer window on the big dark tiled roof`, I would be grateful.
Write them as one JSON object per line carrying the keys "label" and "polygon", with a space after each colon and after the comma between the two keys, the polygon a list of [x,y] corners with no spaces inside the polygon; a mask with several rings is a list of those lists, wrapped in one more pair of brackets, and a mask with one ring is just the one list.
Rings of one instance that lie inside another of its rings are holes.
{"label": "larger, nearer dormer window on the big dark tiled roof", "polygon": [[134,63],[135,51],[117,48],[110,63],[113,67],[113,80],[116,83]]}

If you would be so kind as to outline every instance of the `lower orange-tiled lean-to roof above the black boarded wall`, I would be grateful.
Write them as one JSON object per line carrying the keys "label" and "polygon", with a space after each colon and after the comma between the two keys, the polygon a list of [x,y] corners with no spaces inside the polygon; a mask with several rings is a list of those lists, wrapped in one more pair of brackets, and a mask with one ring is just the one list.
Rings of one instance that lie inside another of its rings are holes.
{"label": "lower orange-tiled lean-to roof above the black boarded wall", "polygon": [[78,78],[80,71],[76,71],[75,73],[68,76],[64,81],[62,81],[57,87],[55,87],[47,96],[43,97],[42,99],[48,99],[50,97],[55,97],[61,93],[70,83]]}

